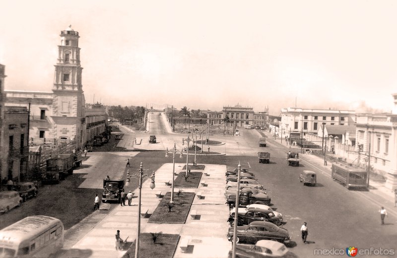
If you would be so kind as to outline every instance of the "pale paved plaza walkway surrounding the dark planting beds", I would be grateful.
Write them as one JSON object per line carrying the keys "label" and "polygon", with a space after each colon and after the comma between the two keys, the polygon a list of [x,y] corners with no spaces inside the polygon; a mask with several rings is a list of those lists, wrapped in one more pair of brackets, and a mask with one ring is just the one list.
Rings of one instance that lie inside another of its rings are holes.
{"label": "pale paved plaza walkway surrounding the dark planting beds", "polygon": [[[184,164],[176,164],[176,168]],[[145,180],[142,184],[141,211],[148,210],[151,214],[157,207],[160,198],[156,193],[171,192],[170,186],[165,182],[172,180],[172,163],[161,166],[156,171],[156,188],[149,188],[150,180]],[[177,173],[179,171],[176,171]],[[174,258],[226,258],[231,243],[226,238],[229,223],[226,219],[229,208],[224,204],[225,187],[225,165],[205,165],[201,184],[196,188],[182,189],[184,192],[201,192],[200,199],[195,197],[190,212],[196,210],[197,219],[192,219],[188,214],[185,224],[156,224],[147,223],[148,218],[141,218],[141,233],[160,232],[165,234],[179,234],[180,240],[175,251]],[[204,172],[208,175],[205,176]],[[134,196],[138,194],[135,190]],[[133,242],[136,239],[138,198],[132,199],[132,206],[118,205],[108,216],[97,223],[84,237],[66,251],[62,258],[90,257],[90,258],[121,258],[126,251],[117,251],[115,248],[116,230],[120,230],[121,236]],[[210,234],[208,232],[211,232]],[[188,251],[182,252],[179,248],[181,242],[188,240]],[[95,249],[93,248],[95,247]]]}

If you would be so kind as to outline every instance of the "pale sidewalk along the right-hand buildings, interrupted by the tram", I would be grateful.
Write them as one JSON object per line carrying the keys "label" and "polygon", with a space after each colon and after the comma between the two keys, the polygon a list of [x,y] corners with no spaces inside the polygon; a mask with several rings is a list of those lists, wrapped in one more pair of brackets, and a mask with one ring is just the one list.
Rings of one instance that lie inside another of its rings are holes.
{"label": "pale sidewalk along the right-hand buildings, interrupted by the tram", "polygon": [[[262,131],[263,132],[263,131]],[[276,138],[274,140],[274,135],[270,132],[264,132],[265,135],[267,136],[267,140],[270,142],[275,142],[278,145],[284,147],[285,151],[287,152],[288,150],[295,151],[298,153],[301,153],[301,147],[300,146],[290,146],[285,144],[285,139],[281,138]],[[282,143],[281,143],[282,141]],[[317,167],[324,169],[324,171],[327,172],[327,174],[330,175],[331,177],[331,166],[332,162],[327,161],[327,166],[324,165],[324,157],[319,157],[317,155],[310,155],[306,154],[305,150],[303,149],[303,154],[299,154],[299,158],[307,161],[311,164],[315,164]],[[394,192],[387,189],[385,187],[386,182],[378,182],[374,180],[369,180],[369,193],[374,194],[376,196],[373,197],[373,201],[377,202],[380,206],[385,206],[388,210],[389,213],[393,213],[395,216],[397,216],[397,208],[394,207]]]}

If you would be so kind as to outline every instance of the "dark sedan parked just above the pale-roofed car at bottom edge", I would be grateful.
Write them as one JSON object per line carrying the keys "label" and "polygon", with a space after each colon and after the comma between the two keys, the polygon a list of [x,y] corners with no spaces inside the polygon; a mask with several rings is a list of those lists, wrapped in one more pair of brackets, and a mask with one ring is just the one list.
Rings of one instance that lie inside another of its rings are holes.
{"label": "dark sedan parked just above the pale-roofed car at bottom edge", "polygon": [[[227,239],[233,241],[233,227],[229,228]],[[271,222],[254,221],[248,226],[237,227],[236,243],[256,244],[260,240],[273,240],[283,244],[289,243],[291,237],[288,231]]]}

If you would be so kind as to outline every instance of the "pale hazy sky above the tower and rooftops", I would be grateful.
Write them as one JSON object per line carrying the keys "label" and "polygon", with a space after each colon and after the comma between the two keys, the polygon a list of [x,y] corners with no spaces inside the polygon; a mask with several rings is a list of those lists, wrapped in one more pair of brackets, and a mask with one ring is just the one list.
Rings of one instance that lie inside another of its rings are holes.
{"label": "pale hazy sky above the tower and rooftops", "polygon": [[79,33],[86,103],[390,112],[394,0],[5,0],[6,90],[51,91],[60,32]]}

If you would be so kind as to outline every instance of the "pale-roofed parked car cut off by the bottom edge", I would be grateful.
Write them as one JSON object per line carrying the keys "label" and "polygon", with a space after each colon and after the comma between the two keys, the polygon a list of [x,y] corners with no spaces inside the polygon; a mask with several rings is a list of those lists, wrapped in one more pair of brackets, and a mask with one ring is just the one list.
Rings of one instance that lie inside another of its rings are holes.
{"label": "pale-roofed parked car cut off by the bottom edge", "polygon": [[[255,245],[236,244],[238,258],[287,258],[287,253],[288,249],[284,244],[271,240],[260,240]],[[229,251],[229,258],[232,255],[233,251]]]}

